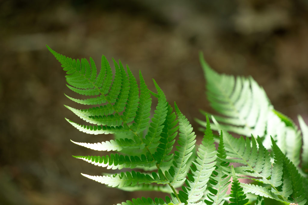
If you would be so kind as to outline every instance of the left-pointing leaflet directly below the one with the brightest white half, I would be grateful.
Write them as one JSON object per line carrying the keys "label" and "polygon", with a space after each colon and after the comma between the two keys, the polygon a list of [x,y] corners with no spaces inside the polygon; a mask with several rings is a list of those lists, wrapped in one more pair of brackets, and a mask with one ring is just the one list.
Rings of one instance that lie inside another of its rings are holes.
{"label": "left-pointing leaflet directly below the one with the brightest white half", "polygon": [[111,154],[106,156],[73,156],[77,159],[82,159],[86,162],[94,164],[99,167],[106,167],[107,169],[123,169],[123,168],[136,168],[152,167],[156,164],[156,161],[152,156],[124,156],[119,154]]}

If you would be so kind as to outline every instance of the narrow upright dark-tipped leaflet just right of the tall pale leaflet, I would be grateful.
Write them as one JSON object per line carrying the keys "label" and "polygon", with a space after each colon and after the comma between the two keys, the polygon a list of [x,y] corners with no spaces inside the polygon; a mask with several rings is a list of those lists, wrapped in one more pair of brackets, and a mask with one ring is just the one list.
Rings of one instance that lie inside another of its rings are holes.
{"label": "narrow upright dark-tipped leaflet just right of the tall pale leaflet", "polygon": [[229,166],[228,162],[223,161],[226,159],[226,151],[223,141],[223,133],[221,132],[220,142],[217,149],[217,164],[213,171],[211,178],[209,179],[209,193],[206,195],[205,202],[208,205],[222,205],[225,203],[227,197],[228,185],[230,184],[231,176],[225,174],[225,168]]}

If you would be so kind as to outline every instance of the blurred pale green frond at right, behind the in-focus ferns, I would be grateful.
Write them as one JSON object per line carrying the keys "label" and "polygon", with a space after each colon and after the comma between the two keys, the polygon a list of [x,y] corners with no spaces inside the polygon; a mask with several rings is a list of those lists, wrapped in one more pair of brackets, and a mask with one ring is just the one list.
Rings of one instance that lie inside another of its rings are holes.
{"label": "blurred pale green frond at right, behind the in-focus ferns", "polygon": [[[214,115],[221,129],[248,137],[260,136],[267,149],[270,148],[272,136],[295,166],[301,162],[300,153],[303,148],[302,167],[308,166],[308,140],[304,140],[302,147],[302,135],[297,126],[274,109],[264,89],[252,77],[218,74],[204,61],[202,54],[200,61],[205,74],[208,100],[215,111],[221,114]],[[197,122],[206,126],[202,120]],[[212,124],[212,128],[219,131],[215,124]]]}

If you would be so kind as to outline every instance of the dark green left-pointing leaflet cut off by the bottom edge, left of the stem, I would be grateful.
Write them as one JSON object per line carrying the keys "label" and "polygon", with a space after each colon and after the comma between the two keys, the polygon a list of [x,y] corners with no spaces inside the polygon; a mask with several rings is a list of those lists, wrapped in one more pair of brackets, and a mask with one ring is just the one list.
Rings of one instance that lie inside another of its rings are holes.
{"label": "dark green left-pointing leaflet cut off by the bottom edge, left of the stem", "polygon": [[184,205],[184,203],[172,203],[167,197],[166,202],[161,198],[155,198],[152,200],[151,198],[142,197],[141,199],[132,199],[132,201],[118,203],[117,205]]}

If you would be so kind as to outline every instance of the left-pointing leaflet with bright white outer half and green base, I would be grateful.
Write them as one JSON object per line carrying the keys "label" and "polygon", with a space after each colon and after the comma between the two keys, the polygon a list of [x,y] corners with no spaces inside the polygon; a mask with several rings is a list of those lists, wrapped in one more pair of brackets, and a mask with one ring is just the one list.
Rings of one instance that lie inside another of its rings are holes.
{"label": "left-pointing leaflet with bright white outer half and green base", "polygon": [[127,138],[98,143],[74,142],[73,140],[71,142],[96,151],[121,151],[123,148],[143,149],[145,146],[144,143],[136,144],[134,140]]}

